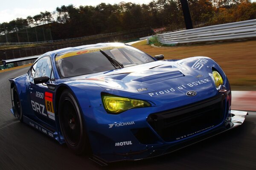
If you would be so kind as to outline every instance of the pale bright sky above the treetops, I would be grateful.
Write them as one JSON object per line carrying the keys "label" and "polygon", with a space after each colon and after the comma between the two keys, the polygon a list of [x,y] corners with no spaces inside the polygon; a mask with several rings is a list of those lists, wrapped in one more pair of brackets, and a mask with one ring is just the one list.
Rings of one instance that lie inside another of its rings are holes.
{"label": "pale bright sky above the treetops", "polygon": [[152,0],[2,0],[0,5],[0,23],[10,22],[17,17],[24,19],[29,15],[33,17],[44,11],[52,12],[62,5],[67,6],[73,4],[76,7],[79,7],[80,5],[96,6],[100,3],[115,4],[122,1],[148,4]]}

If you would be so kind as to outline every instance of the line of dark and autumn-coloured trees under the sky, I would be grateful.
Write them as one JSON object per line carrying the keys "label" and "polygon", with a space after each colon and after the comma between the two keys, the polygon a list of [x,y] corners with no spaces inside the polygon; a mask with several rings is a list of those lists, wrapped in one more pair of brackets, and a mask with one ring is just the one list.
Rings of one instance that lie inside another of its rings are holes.
{"label": "line of dark and autumn-coloured trees under the sky", "polygon": [[[188,3],[194,27],[256,18],[256,3],[250,0],[188,0]],[[145,27],[166,27],[167,31],[175,31],[185,28],[185,23],[179,0],[79,7],[71,4],[57,7],[53,12],[44,11],[25,19],[0,23],[0,34],[22,32],[32,27],[50,28],[52,39],[58,40]]]}

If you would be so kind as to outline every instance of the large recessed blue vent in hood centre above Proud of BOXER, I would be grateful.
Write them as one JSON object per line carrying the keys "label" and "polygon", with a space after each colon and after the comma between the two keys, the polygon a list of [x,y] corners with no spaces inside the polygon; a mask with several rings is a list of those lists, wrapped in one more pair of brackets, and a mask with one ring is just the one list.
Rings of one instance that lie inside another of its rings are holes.
{"label": "large recessed blue vent in hood centre above Proud of BOXER", "polygon": [[141,77],[133,80],[137,82],[144,82],[147,84],[154,84],[154,83],[162,82],[168,79],[176,79],[184,76],[185,75],[182,74],[180,71],[168,71],[168,72],[145,76],[145,77]]}

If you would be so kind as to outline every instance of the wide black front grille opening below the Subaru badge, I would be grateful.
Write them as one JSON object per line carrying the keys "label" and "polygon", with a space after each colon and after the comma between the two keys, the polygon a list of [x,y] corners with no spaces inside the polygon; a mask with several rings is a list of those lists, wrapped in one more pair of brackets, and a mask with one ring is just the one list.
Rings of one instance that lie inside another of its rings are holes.
{"label": "wide black front grille opening below the Subaru badge", "polygon": [[166,142],[185,139],[219,125],[224,120],[225,95],[169,111],[152,113],[147,122]]}

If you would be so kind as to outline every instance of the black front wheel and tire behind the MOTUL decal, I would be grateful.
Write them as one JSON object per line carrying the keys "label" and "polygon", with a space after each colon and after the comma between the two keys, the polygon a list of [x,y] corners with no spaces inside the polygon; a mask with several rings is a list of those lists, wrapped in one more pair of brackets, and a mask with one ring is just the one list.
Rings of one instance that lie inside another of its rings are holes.
{"label": "black front wheel and tire behind the MOTUL decal", "polygon": [[77,155],[84,153],[86,149],[88,151],[90,147],[80,109],[68,90],[64,90],[61,94],[58,113],[61,132],[67,146]]}

